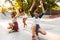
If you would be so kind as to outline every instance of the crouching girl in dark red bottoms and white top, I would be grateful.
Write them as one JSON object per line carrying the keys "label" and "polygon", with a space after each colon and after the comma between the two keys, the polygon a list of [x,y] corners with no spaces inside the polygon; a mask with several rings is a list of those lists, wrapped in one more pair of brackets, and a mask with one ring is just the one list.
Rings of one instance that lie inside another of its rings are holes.
{"label": "crouching girl in dark red bottoms and white top", "polygon": [[18,23],[17,23],[17,17],[16,12],[11,13],[12,23],[9,23],[9,29],[11,29],[9,32],[18,32]]}

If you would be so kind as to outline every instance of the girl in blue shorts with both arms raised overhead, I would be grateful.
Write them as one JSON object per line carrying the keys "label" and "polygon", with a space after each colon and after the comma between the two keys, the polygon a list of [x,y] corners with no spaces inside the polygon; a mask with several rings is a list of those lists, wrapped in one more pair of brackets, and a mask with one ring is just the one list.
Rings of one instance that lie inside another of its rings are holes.
{"label": "girl in blue shorts with both arms raised overhead", "polygon": [[[40,6],[41,6],[42,11],[44,13],[45,11],[44,11],[44,7],[43,7],[42,1],[40,1]],[[39,12],[36,10],[34,12],[34,17],[33,17],[32,40],[36,40],[35,34],[36,34],[37,40],[38,40],[38,33],[46,35],[46,32],[40,27],[39,21],[40,21]]]}

